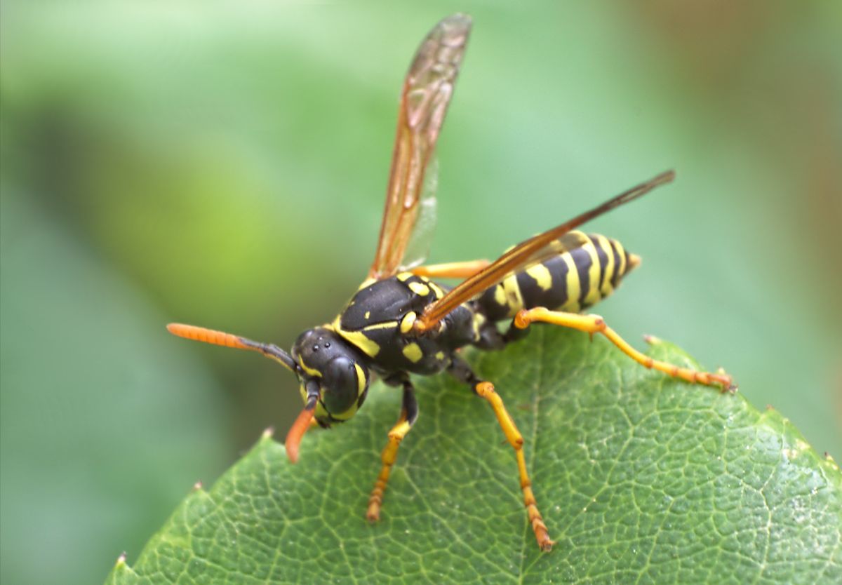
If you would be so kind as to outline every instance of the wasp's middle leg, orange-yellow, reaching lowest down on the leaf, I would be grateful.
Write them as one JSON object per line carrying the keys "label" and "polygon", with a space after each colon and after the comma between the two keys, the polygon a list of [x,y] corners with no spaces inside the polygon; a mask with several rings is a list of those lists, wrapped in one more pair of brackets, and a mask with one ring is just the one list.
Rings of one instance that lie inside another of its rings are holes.
{"label": "wasp's middle leg, orange-yellow, reaching lowest down on the leaf", "polygon": [[518,428],[514,425],[514,420],[506,411],[503,404],[503,399],[498,393],[494,391],[494,385],[491,382],[480,380],[477,375],[473,373],[470,366],[461,359],[453,359],[450,364],[450,373],[458,380],[470,384],[479,396],[485,398],[494,410],[497,416],[497,422],[506,440],[514,449],[514,455],[518,460],[518,474],[520,475],[520,489],[524,493],[524,506],[526,507],[526,516],[529,518],[532,531],[535,533],[535,538],[538,541],[538,546],[541,550],[548,552],[552,550],[552,545],[555,541],[550,540],[550,534],[546,531],[546,524],[538,511],[538,504],[535,500],[535,494],[532,493],[532,481],[529,478],[529,473],[526,471],[526,459],[524,457],[524,438],[520,434]]}

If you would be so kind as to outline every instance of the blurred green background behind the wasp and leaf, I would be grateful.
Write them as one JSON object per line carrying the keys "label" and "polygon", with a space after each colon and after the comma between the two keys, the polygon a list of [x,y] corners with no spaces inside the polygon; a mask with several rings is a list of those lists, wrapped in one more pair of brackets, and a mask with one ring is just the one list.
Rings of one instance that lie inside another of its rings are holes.
{"label": "blurred green background behind the wasp and leaf", "polygon": [[285,433],[285,370],[163,326],[289,347],[338,311],[374,252],[402,76],[456,10],[474,32],[431,260],[493,258],[676,168],[590,226],[644,259],[598,311],[842,456],[839,3],[7,0],[4,583],[100,582]]}

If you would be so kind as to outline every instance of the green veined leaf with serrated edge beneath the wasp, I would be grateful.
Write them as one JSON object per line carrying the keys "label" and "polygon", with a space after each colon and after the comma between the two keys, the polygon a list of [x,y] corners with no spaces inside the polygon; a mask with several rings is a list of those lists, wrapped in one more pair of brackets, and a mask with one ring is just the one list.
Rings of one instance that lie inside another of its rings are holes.
{"label": "green veined leaf with serrated edge beneath the wasp", "polygon": [[353,422],[306,435],[296,466],[264,436],[108,582],[842,582],[842,474],[786,418],[535,329],[469,358],[524,435],[551,553],[490,407],[439,375],[417,380],[379,524],[365,505],[400,407],[381,385]]}

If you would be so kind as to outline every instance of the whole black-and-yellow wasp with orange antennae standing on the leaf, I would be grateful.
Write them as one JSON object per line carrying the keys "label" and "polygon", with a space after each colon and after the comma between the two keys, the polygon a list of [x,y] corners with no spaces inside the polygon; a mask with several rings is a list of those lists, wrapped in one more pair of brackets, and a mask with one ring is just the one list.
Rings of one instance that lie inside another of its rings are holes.
{"label": "whole black-and-yellow wasp with orange antennae standing on the leaf", "polygon": [[[482,380],[460,355],[473,346],[503,348],[531,323],[552,323],[600,333],[643,366],[692,383],[733,389],[731,377],[658,361],[632,348],[602,317],[582,311],[610,295],[640,258],[614,239],[577,231],[586,221],[669,183],[674,172],[640,183],[602,205],[509,248],[493,262],[475,260],[423,266],[434,193],[434,147],[453,95],[471,18],[454,14],[436,24],[418,47],[403,82],[397,136],[380,237],[368,278],[332,322],[296,339],[290,352],[231,333],[171,323],[183,338],[257,351],[299,380],[304,409],[286,435],[289,459],[298,459],[306,430],[348,421],[362,407],[372,375],[402,389],[402,408],[388,433],[381,471],[366,516],[380,517],[398,446],[418,418],[411,374],[447,370],[493,409],[517,460],[527,517],[541,550],[554,544],[526,469],[524,439],[491,380]],[[463,279],[450,288],[435,279]],[[505,328],[504,323],[509,327]]]}

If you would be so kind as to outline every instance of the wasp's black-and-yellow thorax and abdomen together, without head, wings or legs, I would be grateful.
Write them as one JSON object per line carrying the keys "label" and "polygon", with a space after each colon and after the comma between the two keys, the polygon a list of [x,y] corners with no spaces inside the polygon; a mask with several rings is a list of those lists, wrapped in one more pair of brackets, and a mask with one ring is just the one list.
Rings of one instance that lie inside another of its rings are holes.
{"label": "wasp's black-and-yellow thorax and abdomen together, without head, wings or legs", "polygon": [[544,306],[578,312],[594,305],[638,262],[620,242],[581,231],[569,232],[553,247],[557,255],[509,275],[477,300],[456,307],[432,331],[418,334],[413,322],[447,289],[409,272],[365,281],[331,327],[381,375],[434,374],[453,363],[458,348],[499,348],[514,340],[517,335],[501,336],[495,322],[521,309]]}

